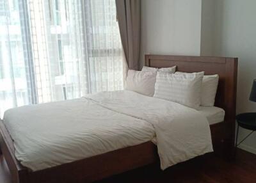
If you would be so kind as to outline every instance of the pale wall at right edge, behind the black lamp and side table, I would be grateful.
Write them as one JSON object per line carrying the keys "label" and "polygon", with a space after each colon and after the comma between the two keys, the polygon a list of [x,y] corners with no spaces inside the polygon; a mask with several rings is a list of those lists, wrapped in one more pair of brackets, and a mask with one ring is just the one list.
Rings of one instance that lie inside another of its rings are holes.
{"label": "pale wall at right edge, behind the black lamp and side table", "polygon": [[[214,1],[214,55],[239,58],[237,113],[256,112],[256,103],[248,100],[256,78],[256,1]],[[243,130],[239,139],[246,134],[248,131]],[[256,154],[256,133],[244,141],[241,148]]]}

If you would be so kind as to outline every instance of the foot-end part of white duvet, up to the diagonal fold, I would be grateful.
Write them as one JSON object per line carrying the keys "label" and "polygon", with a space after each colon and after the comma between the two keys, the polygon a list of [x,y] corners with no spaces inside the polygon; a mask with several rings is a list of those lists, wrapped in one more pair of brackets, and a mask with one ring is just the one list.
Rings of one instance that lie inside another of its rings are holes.
{"label": "foot-end part of white duvet, up to the diagonal fold", "polygon": [[155,136],[151,123],[85,98],[13,108],[4,113],[3,122],[13,138],[15,157],[32,171],[139,145]]}

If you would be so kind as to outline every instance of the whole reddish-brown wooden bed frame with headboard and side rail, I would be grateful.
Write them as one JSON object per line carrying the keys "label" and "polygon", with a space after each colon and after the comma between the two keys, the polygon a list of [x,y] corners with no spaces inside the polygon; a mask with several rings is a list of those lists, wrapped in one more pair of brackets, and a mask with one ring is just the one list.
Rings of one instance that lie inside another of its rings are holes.
{"label": "whole reddish-brown wooden bed frame with headboard and side rail", "polygon": [[[237,58],[145,55],[145,65],[158,68],[177,65],[177,70],[181,72],[205,71],[205,74],[219,74],[215,106],[225,109],[225,121],[211,125],[212,143],[214,152],[232,154],[236,115]],[[29,171],[15,158],[13,140],[2,121],[0,130],[1,150],[15,183],[92,182],[159,161],[156,146],[148,141],[53,168]]]}

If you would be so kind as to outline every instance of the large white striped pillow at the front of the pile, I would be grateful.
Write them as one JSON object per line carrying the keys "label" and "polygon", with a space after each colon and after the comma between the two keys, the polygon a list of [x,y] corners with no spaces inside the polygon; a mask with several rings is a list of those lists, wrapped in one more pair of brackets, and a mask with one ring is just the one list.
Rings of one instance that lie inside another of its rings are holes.
{"label": "large white striped pillow at the front of the pile", "polygon": [[198,109],[203,76],[157,72],[154,97]]}

